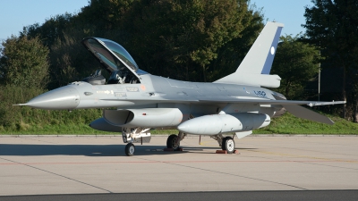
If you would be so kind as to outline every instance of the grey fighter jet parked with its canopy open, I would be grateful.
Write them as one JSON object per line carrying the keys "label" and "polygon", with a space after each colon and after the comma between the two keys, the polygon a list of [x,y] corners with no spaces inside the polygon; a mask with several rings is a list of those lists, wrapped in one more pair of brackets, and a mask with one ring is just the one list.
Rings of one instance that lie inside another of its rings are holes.
{"label": "grey fighter jet parked with its canopy open", "polygon": [[[243,138],[268,126],[286,111],[311,121],[333,124],[328,117],[300,105],[335,105],[338,102],[286,100],[268,88],[278,88],[280,77],[270,75],[283,24],[268,22],[237,70],[210,83],[172,80],[142,71],[123,46],[105,38],[84,38],[81,43],[110,76],[98,70],[31,99],[26,104],[47,110],[104,108],[92,121],[95,130],[122,132],[126,155],[134,155],[133,143],[149,142],[150,130],[176,128],[166,147],[180,148],[188,134],[208,135],[219,147],[233,153],[233,133]],[[116,109],[107,109],[116,108]]]}

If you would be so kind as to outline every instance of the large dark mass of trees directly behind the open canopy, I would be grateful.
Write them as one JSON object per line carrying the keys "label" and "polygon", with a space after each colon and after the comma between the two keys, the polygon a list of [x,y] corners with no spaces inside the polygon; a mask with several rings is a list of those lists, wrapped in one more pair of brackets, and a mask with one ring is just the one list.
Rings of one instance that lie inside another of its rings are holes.
{"label": "large dark mass of trees directly behind the open canopy", "polygon": [[30,25],[21,36],[38,36],[49,48],[48,88],[57,88],[99,67],[82,38],[114,40],[152,74],[213,81],[235,70],[262,28],[262,14],[246,0],[92,0],[80,13]]}

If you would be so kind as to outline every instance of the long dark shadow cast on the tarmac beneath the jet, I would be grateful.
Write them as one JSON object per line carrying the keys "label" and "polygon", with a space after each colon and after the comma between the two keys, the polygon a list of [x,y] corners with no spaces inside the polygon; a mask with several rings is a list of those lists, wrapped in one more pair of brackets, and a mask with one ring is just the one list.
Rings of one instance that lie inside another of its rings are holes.
{"label": "long dark shadow cast on the tarmac beneath the jet", "polygon": [[[183,151],[165,152],[164,146],[135,145],[135,155],[176,155],[189,152],[209,154],[204,149],[219,147],[183,147]],[[0,155],[86,155],[86,156],[126,156],[125,145],[19,145],[0,144]],[[240,149],[240,148],[237,148]],[[252,148],[243,148],[252,149]]]}

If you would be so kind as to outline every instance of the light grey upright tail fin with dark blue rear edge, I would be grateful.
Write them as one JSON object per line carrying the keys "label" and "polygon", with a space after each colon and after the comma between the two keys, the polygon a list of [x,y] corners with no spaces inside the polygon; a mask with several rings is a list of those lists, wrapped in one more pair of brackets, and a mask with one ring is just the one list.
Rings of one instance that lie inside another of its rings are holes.
{"label": "light grey upright tail fin with dark blue rear edge", "polygon": [[282,23],[268,21],[237,70],[215,82],[278,88],[281,78],[269,75],[269,71],[283,27]]}

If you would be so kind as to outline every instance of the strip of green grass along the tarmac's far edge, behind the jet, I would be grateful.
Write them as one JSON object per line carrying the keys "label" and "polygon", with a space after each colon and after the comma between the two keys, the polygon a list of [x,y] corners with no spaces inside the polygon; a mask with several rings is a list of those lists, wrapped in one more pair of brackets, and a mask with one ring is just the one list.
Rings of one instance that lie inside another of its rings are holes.
{"label": "strip of green grass along the tarmac's far edge, behind the jet", "polygon": [[[358,134],[358,123],[345,121],[345,119],[330,116],[334,125],[303,120],[290,113],[286,113],[279,118],[274,118],[268,127],[260,130],[253,130],[253,134]],[[151,130],[151,134],[176,134],[178,130]],[[106,132],[93,130],[85,123],[59,123],[59,124],[26,124],[20,122],[16,128],[9,130],[0,127],[0,134],[3,135],[113,135],[120,134],[118,132]]]}

